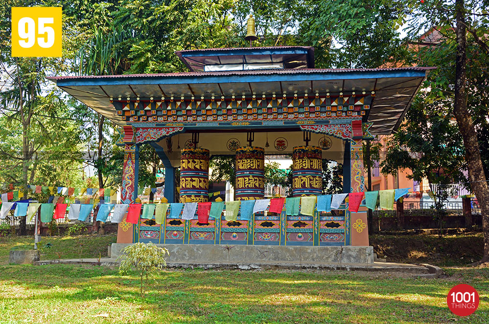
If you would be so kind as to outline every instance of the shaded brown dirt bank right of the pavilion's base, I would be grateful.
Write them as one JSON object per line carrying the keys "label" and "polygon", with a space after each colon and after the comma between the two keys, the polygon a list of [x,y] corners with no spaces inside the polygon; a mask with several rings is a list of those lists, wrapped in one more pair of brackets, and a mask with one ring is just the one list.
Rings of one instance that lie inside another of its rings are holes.
{"label": "shaded brown dirt bank right of the pavilion's base", "polygon": [[371,235],[370,245],[388,262],[430,263],[438,266],[467,265],[482,258],[482,233],[457,235]]}

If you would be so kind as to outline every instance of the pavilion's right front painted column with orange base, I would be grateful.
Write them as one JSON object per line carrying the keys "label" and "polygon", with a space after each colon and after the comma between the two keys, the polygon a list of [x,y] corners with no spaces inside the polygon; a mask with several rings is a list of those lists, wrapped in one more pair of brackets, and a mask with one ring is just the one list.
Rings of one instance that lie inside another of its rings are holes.
{"label": "pavilion's right front painted column with orange base", "polygon": [[[345,161],[346,163],[346,161]],[[350,141],[350,192],[365,192],[363,176],[363,145],[361,139]],[[368,246],[367,207],[350,213],[352,245]]]}

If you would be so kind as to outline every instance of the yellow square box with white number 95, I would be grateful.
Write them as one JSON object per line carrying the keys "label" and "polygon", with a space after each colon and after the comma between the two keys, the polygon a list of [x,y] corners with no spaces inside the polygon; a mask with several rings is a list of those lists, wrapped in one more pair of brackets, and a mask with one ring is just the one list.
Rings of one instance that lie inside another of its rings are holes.
{"label": "yellow square box with white number 95", "polygon": [[61,7],[12,7],[12,57],[60,57]]}

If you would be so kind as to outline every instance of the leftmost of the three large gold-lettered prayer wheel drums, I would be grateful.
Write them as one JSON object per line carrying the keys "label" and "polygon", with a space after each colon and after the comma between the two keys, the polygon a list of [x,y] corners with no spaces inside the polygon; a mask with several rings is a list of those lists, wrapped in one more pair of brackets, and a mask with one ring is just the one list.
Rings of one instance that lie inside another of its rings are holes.
{"label": "leftmost of the three large gold-lettered prayer wheel drums", "polygon": [[180,160],[180,203],[209,200],[209,150],[182,149]]}

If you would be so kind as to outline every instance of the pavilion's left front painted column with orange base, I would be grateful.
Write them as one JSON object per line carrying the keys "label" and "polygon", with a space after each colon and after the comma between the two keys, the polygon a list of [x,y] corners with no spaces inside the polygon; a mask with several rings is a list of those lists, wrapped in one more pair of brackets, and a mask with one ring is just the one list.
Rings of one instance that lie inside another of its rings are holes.
{"label": "pavilion's left front painted column with orange base", "polygon": [[[122,168],[121,203],[133,203],[137,198],[137,176],[139,168],[139,146],[125,144]],[[119,223],[117,243],[133,243],[133,224],[126,219]]]}

